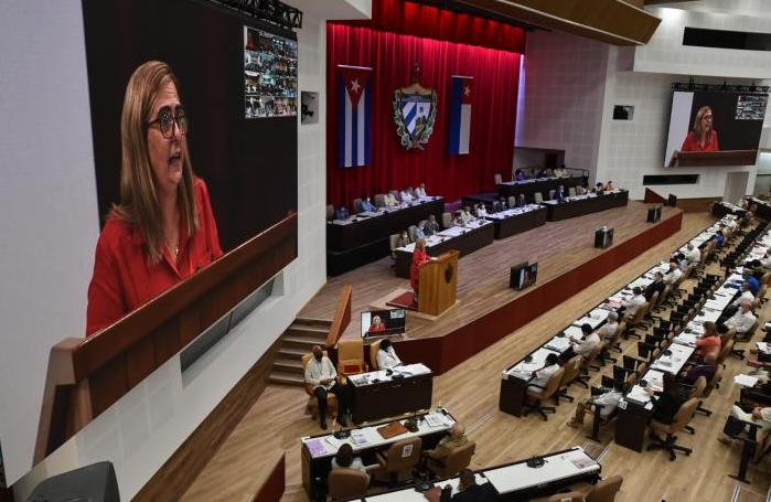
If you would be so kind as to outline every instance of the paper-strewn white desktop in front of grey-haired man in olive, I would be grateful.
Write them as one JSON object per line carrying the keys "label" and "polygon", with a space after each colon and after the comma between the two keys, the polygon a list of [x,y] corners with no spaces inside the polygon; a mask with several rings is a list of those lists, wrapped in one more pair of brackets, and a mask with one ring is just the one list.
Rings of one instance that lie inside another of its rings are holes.
{"label": "paper-strewn white desktop in front of grey-haired man in olive", "polygon": [[[308,446],[308,450],[311,453],[311,457],[313,458],[322,458],[322,457],[331,457],[338,452],[338,449],[345,442],[351,445],[353,447],[353,451],[360,451],[368,448],[375,448],[384,445],[390,445],[396,441],[400,441],[401,439],[408,439],[413,438],[416,436],[426,436],[428,434],[433,434],[442,430],[449,430],[450,427],[452,427],[452,424],[456,423],[456,420],[452,419],[452,417],[448,414],[445,415],[443,413],[436,410],[432,413],[427,414],[427,416],[433,416],[439,420],[439,425],[437,427],[431,427],[428,425],[427,420],[418,420],[418,430],[415,432],[404,432],[398,436],[395,436],[390,439],[384,439],[383,436],[377,431],[378,427],[383,427],[384,425],[387,424],[379,424],[371,427],[362,427],[358,429],[352,429],[351,430],[351,436],[345,438],[345,439],[336,439],[334,435],[328,434],[326,436],[318,436],[314,438],[311,437],[304,437],[301,439],[301,442],[303,445]],[[405,420],[399,420],[401,424],[406,421]],[[354,441],[354,436],[361,437],[364,439],[365,442],[361,445],[356,445]]]}

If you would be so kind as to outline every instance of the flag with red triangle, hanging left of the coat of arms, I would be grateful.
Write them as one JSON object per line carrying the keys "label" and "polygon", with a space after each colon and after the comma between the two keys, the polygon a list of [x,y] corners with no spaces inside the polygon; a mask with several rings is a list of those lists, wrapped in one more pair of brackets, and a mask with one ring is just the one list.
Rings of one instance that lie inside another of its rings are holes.
{"label": "flag with red triangle, hanging left of the coat of arms", "polygon": [[338,165],[370,164],[372,68],[338,65]]}

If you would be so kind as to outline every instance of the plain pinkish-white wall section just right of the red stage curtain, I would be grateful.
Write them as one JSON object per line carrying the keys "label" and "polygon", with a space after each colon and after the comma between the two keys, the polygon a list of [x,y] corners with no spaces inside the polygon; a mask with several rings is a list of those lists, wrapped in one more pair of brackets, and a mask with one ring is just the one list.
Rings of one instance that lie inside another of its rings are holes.
{"label": "plain pinkish-white wall section just right of the red stage curtain", "polygon": [[593,171],[607,53],[606,44],[574,35],[545,31],[527,34],[515,159],[516,147],[565,150],[566,167]]}

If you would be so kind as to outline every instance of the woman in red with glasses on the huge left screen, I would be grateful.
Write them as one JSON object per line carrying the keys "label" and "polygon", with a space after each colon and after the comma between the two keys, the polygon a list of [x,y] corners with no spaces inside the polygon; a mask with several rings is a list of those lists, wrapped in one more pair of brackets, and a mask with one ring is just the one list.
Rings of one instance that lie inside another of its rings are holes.
{"label": "woman in red with glasses on the huge left screen", "polygon": [[120,203],[96,244],[87,337],[223,255],[206,184],[190,162],[179,88],[158,61],[139,66],[126,86]]}

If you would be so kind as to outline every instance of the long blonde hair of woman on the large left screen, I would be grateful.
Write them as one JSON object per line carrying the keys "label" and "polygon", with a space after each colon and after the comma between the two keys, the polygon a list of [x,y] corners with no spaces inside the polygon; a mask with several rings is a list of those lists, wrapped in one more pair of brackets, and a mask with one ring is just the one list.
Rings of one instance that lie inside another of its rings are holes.
{"label": "long blonde hair of woman on the large left screen", "polygon": [[[148,61],[135,70],[129,78],[120,116],[120,204],[114,204],[110,213],[110,216],[139,228],[151,264],[157,264],[162,258],[164,236],[158,188],[148,154],[147,122],[158,93],[169,82],[174,84],[182,100],[179,81],[165,63]],[[193,235],[199,229],[193,194],[194,174],[186,141],[181,141],[181,148],[184,162],[182,181],[176,188],[176,202],[188,225],[188,235]]]}

